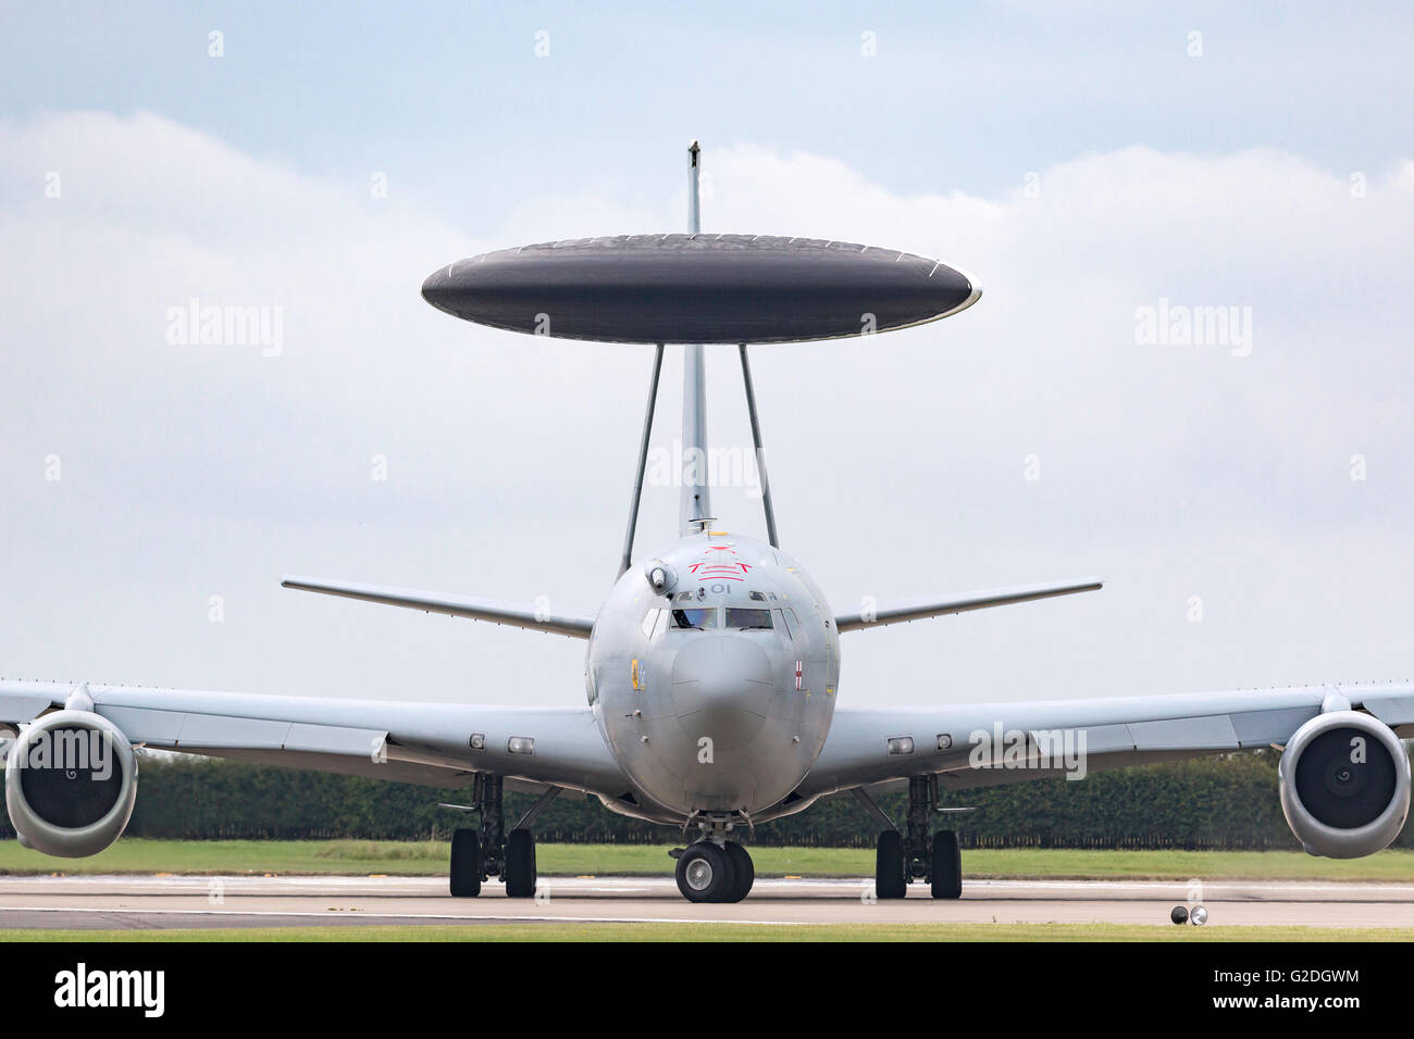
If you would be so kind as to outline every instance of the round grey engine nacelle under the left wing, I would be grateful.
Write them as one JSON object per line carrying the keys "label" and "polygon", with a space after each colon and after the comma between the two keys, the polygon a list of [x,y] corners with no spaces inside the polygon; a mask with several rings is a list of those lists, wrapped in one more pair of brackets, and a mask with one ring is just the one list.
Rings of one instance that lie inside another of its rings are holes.
{"label": "round grey engine nacelle under the left wing", "polygon": [[127,827],[137,800],[137,755],[92,711],[47,714],[6,755],[4,802],[20,844],[45,855],[96,855]]}

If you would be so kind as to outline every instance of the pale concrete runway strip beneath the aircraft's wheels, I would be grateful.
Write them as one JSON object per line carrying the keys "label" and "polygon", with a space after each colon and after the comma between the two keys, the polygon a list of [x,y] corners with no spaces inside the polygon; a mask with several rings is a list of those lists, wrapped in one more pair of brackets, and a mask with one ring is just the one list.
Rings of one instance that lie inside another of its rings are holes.
{"label": "pale concrete runway strip beneath the aircraft's wheels", "polygon": [[[3,876],[0,927],[127,930],[583,920],[735,923],[1130,923],[1172,927],[1186,882],[967,881],[935,902],[911,885],[901,902],[872,881],[758,879],[737,905],[693,905],[672,878],[542,878],[537,896],[499,884],[454,899],[441,876]],[[1213,882],[1196,892],[1209,927],[1304,924],[1414,927],[1414,884]]]}

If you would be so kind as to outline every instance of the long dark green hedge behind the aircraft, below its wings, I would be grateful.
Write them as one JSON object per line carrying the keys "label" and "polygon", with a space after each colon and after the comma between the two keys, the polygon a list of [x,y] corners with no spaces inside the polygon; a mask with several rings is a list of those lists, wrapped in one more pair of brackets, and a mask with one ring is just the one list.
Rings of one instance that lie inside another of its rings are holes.
{"label": "long dark green hedge behind the aircraft, below its wings", "polygon": [[[1297,848],[1277,799],[1277,753],[1202,758],[1092,775],[949,793],[945,804],[976,806],[954,817],[964,847],[1042,848]],[[143,761],[129,833],[175,838],[411,840],[445,837],[465,816],[437,802],[469,793],[375,779],[331,776],[209,759]],[[533,802],[508,794],[508,826]],[[902,821],[906,797],[882,807]],[[6,820],[7,835],[8,826]],[[758,827],[755,844],[867,847],[877,824],[853,797],[819,802]],[[547,841],[660,843],[673,827],[608,811],[563,794],[536,821]],[[1408,831],[1397,841],[1410,845]]]}

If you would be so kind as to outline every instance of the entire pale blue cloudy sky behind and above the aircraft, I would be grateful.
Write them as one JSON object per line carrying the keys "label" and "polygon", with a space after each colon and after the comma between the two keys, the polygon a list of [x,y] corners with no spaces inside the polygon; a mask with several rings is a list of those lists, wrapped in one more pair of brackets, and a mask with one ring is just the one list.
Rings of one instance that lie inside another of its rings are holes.
{"label": "entire pale blue cloudy sky behind and above the aircraft", "polygon": [[[650,349],[419,288],[488,249],[684,229],[696,137],[704,230],[986,288],[752,353],[782,543],[836,612],[1107,582],[848,633],[841,704],[1407,679],[1411,28],[1396,4],[7,6],[0,674],[584,703],[583,642],[279,581],[597,609]],[[269,342],[184,334],[192,300],[256,308]],[[735,353],[708,365],[710,435],[747,445]],[[761,533],[741,488],[714,505]],[[674,523],[649,488],[639,553]]]}

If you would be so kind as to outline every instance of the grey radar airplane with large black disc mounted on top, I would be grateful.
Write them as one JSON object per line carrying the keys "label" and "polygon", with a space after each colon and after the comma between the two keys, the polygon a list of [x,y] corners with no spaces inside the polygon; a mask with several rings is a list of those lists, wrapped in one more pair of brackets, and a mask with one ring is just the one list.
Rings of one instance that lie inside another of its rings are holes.
{"label": "grey radar airplane with large black disc mounted on top", "polygon": [[[773,818],[850,793],[878,820],[878,898],[911,881],[957,898],[956,833],[933,833],[940,792],[1249,748],[1282,749],[1280,796],[1312,855],[1353,858],[1404,826],[1414,687],[1329,684],[1107,700],[1039,700],[887,710],[839,705],[840,636],[867,628],[1093,591],[1069,581],[836,614],[781,550],[764,461],[766,540],[711,516],[703,344],[740,349],[756,459],[761,424],[748,345],[860,336],[966,310],[964,271],[846,242],[699,230],[696,143],[690,230],[553,242],[458,260],[423,295],[460,318],[570,339],[655,346],[619,574],[595,616],[290,577],[288,588],[493,621],[587,642],[583,707],[204,693],[0,681],[8,722],[6,804],[25,847],[83,857],[123,833],[137,794],[134,746],[464,787],[479,826],[451,845],[451,893],[491,879],[536,891],[533,824],[560,793],[677,827],[682,893],[735,902],[751,891],[740,843]],[[677,540],[633,558],[665,345],[684,351],[684,479]],[[939,677],[921,664],[921,673]],[[874,703],[881,691],[860,683]],[[889,818],[880,792],[908,790]],[[503,792],[539,793],[520,818]],[[964,809],[963,809],[964,810]],[[508,826],[509,821],[509,826]]]}

